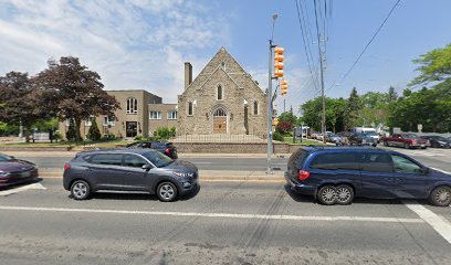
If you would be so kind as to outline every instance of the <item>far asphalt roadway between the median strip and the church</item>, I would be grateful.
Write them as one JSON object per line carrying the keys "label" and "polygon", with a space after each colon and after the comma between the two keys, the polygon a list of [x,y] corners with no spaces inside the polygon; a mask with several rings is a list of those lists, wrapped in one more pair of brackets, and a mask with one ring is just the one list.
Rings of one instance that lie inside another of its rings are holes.
{"label": "far asphalt roadway between the median strip and the church", "polygon": [[[429,148],[427,150],[419,149],[403,149],[403,148],[389,148],[399,152],[411,156],[418,161],[434,168],[439,168],[445,171],[451,171],[451,149],[437,149]],[[15,155],[15,153],[14,153]],[[15,155],[18,158],[32,161],[38,165],[39,168],[62,169],[64,163],[71,160],[71,156],[54,156],[51,152],[40,153],[40,156],[33,156],[31,153]],[[272,167],[276,170],[286,170],[286,160],[289,155],[284,158],[273,158]],[[180,159],[191,161],[198,166],[201,170],[249,170],[249,171],[264,171],[266,169],[266,157],[264,155],[256,155],[254,157],[242,156],[221,156],[221,155],[183,155],[180,153]]]}

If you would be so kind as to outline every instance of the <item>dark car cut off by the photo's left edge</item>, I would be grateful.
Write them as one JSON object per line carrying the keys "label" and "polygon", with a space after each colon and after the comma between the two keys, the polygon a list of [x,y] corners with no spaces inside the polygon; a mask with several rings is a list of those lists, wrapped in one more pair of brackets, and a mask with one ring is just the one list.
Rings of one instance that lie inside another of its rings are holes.
{"label": "dark car cut off by the photo's left edge", "polygon": [[34,163],[0,153],[0,187],[28,182],[38,178]]}

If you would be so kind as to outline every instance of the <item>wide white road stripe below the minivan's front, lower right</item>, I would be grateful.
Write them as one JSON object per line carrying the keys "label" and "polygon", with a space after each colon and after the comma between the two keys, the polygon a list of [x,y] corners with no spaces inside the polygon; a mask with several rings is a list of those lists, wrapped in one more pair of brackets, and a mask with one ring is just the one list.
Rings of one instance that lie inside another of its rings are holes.
{"label": "wide white road stripe below the minivan's front, lower right", "polygon": [[448,243],[451,244],[451,223],[437,215],[431,210],[418,203],[403,202],[410,210],[418,214],[424,222],[432,226]]}

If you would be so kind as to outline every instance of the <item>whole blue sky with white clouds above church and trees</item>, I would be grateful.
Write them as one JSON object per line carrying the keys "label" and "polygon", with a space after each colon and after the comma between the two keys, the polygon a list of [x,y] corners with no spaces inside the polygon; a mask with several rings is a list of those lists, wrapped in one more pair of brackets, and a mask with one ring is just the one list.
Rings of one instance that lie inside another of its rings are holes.
{"label": "whole blue sky with white clouds above church and trees", "polygon": [[[396,0],[326,1],[329,87],[350,67]],[[313,0],[301,2],[318,67]],[[386,92],[390,85],[401,93],[416,76],[411,61],[451,42],[450,10],[449,0],[402,0],[354,71],[327,89],[327,96],[347,97],[354,86],[360,94]],[[34,75],[49,57],[73,55],[101,74],[106,89],[143,88],[175,103],[182,91],[183,62],[190,61],[197,74],[223,45],[264,89],[273,13],[280,15],[275,43],[285,49],[286,108],[297,110],[318,93],[310,82],[295,0],[0,0],[0,75]],[[276,104],[282,110],[281,96]]]}

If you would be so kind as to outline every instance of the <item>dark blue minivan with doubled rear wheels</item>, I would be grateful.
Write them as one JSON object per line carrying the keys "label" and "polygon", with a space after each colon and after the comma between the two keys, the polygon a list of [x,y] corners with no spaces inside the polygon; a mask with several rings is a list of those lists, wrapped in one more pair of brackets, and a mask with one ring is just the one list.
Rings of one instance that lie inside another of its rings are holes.
{"label": "dark blue minivan with doubled rear wheels", "polygon": [[378,148],[301,148],[290,157],[285,179],[293,191],[327,205],[349,204],[354,197],[451,203],[451,174]]}

